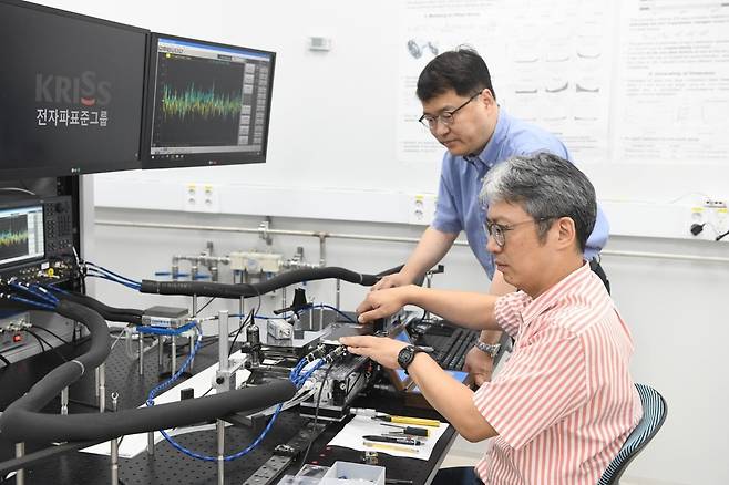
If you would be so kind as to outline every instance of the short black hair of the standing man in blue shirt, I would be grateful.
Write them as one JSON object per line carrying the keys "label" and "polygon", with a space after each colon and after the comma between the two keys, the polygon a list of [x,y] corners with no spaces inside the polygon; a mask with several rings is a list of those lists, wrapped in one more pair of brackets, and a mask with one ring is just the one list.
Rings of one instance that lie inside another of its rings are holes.
{"label": "short black hair of the standing man in blue shirt", "polygon": [[415,93],[420,101],[429,101],[449,90],[459,96],[472,96],[484,89],[496,99],[485,61],[475,50],[461,47],[443,52],[425,65]]}

